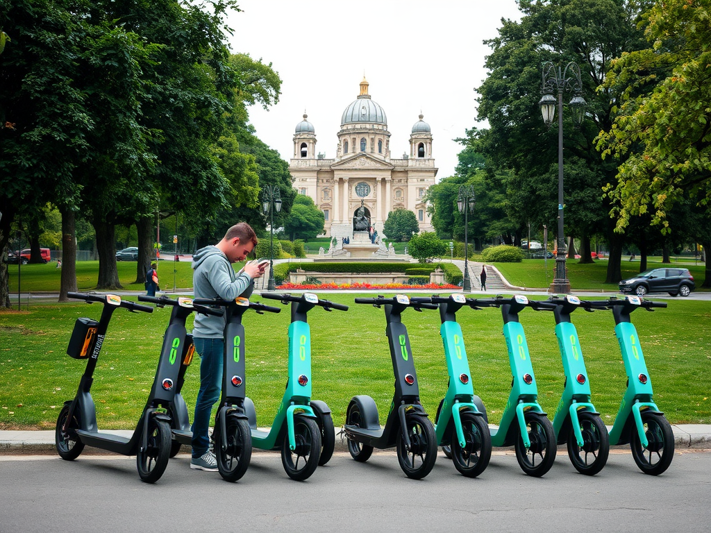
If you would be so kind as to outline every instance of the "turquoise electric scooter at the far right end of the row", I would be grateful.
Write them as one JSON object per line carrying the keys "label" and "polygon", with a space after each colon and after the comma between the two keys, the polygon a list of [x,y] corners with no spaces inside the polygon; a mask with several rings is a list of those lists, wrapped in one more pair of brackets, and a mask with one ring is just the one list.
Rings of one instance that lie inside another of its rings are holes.
{"label": "turquoise electric scooter at the far right end of the row", "polygon": [[634,462],[643,473],[659,475],[674,458],[674,433],[664,413],[652,399],[652,382],[644,362],[642,347],[630,314],[638,308],[653,311],[665,308],[665,302],[643,300],[639,296],[606,301],[589,301],[590,308],[611,308],[615,319],[615,335],[620,345],[627,389],[610,430],[612,446],[629,443]]}

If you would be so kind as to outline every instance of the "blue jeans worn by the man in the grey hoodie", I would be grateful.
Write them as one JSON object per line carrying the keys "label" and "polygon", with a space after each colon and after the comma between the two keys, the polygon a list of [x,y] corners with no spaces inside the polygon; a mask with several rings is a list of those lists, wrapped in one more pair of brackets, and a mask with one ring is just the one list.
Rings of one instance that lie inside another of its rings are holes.
{"label": "blue jeans worn by the man in the grey hoodie", "polygon": [[193,458],[210,448],[208,427],[215,402],[220,399],[223,372],[223,339],[194,338],[195,351],[200,355],[200,390],[193,418]]}

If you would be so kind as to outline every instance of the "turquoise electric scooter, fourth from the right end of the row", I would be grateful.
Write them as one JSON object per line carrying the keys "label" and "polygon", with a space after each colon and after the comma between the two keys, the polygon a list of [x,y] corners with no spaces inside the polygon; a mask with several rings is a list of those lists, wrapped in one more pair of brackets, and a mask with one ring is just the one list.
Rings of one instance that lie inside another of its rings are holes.
{"label": "turquoise electric scooter, fourth from the right end of the row", "polygon": [[454,466],[468,478],[481,474],[491,459],[491,434],[484,421],[481,399],[474,395],[471,372],[464,349],[461,327],[456,322],[456,312],[463,306],[475,306],[474,300],[464,294],[448,297],[411,298],[413,302],[439,304],[442,326],[439,334],[444,343],[447,360],[447,394],[439,402],[434,419],[434,433],[444,453],[454,461]]}

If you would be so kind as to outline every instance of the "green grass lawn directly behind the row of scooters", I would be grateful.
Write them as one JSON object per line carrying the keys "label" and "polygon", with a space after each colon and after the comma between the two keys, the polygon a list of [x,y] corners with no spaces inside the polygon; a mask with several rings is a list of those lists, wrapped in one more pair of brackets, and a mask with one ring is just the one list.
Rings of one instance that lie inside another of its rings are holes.
{"label": "green grass lawn directly behind the row of scooters", "polygon": [[[126,266],[135,269],[135,264]],[[161,275],[165,276],[166,268],[161,266]],[[348,304],[350,310],[346,313],[326,313],[321,308],[309,313],[314,399],[324,400],[331,407],[337,426],[343,424],[346,407],[355,394],[369,394],[375,399],[381,422],[392,399],[383,310],[357,305],[353,303],[355,296],[365,295],[326,296]],[[85,362],[65,354],[73,323],[79,316],[98,318],[100,311],[100,306],[83,302],[33,305],[29,311],[21,312],[0,311],[0,429],[53,429],[63,402],[75,394],[85,366]],[[114,313],[92,387],[102,429],[131,429],[136,424],[151,387],[169,315],[167,308],[156,309],[151,315],[122,310]],[[493,308],[462,309],[458,316],[474,390],[486,403],[489,420],[497,423],[511,381],[501,335],[501,312]],[[711,424],[708,303],[678,298],[670,301],[666,309],[654,313],[637,311],[632,318],[660,409],[673,423]],[[592,401],[605,423],[612,424],[626,376],[611,313],[578,311],[572,319],[587,361]],[[437,404],[447,389],[439,313],[408,310],[403,314],[403,323],[410,333],[422,403],[434,419]],[[540,404],[552,418],[563,384],[555,323],[550,313],[530,309],[521,313],[521,323],[528,338]],[[284,392],[289,312],[250,312],[245,315],[244,324],[247,394],[255,401],[258,423],[268,425]],[[198,374],[196,358],[183,389],[189,409],[195,405]],[[192,411],[190,414],[192,419]]]}

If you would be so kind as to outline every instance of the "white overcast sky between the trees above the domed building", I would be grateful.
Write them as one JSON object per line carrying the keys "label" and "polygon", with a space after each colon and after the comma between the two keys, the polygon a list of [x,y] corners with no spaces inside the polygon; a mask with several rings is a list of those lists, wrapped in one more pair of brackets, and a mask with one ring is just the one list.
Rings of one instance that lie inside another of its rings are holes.
{"label": "white overcast sky between the trees above the domed building", "polygon": [[476,92],[486,77],[484,39],[501,18],[518,20],[515,0],[240,0],[230,15],[233,53],[262,58],[282,78],[279,103],[250,108],[257,136],[292,158],[294,128],[306,110],[316,153],[336,156],[341,114],[360,80],[387,115],[390,154],[410,151],[420,112],[432,127],[437,180],[454,174],[462,146],[454,138],[476,125]]}

